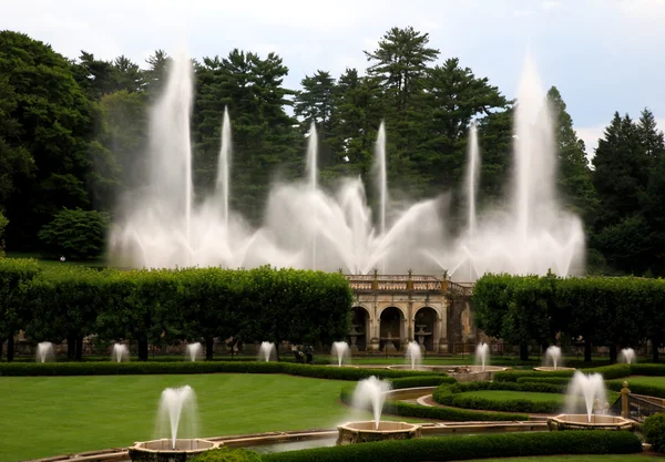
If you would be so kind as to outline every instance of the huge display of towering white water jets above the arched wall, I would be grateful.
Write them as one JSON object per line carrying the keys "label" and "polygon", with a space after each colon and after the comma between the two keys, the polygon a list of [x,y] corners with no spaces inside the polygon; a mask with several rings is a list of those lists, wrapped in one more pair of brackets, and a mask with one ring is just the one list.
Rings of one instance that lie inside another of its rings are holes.
{"label": "huge display of towering white water jets above the arched wall", "polygon": [[[227,268],[316,268],[347,274],[400,274],[405,268],[453,279],[487,271],[560,275],[581,270],[584,234],[576,216],[562,211],[555,191],[554,132],[535,68],[526,60],[515,110],[515,176],[503,207],[475,206],[480,155],[470,130],[467,175],[469,223],[450,235],[439,199],[410,205],[390,202],[383,125],[375,146],[377,213],[367,203],[360,178],[346,178],[332,191],[318,183],[316,127],[308,133],[307,174],[272,185],[263,222],[252,228],[231,209],[232,125],[222,121],[222,147],[215,191],[194,201],[190,119],[192,64],[176,55],[150,120],[150,146],[140,194],[119,204],[110,255],[122,267],[223,266]],[[538,213],[536,213],[538,211]],[[424,256],[424,258],[423,258]]]}

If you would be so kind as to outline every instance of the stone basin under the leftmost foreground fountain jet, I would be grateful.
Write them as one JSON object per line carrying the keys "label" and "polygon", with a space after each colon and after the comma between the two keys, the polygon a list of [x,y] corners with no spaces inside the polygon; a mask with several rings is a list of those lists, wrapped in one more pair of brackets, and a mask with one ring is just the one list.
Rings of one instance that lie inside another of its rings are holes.
{"label": "stone basin under the leftmost foreground fountain jet", "polygon": [[184,462],[221,444],[198,438],[177,439],[175,448],[171,439],[141,441],[130,448],[130,459],[133,462]]}

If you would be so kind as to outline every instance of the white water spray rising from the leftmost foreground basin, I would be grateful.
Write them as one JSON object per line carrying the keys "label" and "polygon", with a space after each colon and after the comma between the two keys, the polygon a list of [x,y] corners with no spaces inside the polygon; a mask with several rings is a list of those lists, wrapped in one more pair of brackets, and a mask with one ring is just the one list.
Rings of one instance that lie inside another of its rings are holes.
{"label": "white water spray rising from the leftmost foreground basin", "polygon": [[168,434],[172,449],[175,449],[175,440],[178,435],[196,437],[197,419],[196,393],[192,387],[167,388],[162,391],[155,431],[157,438]]}

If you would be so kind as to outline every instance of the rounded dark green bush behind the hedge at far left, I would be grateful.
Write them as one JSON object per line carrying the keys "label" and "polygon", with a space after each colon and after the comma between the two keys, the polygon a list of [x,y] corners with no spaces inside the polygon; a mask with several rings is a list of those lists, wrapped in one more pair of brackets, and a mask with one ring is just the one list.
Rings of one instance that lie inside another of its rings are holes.
{"label": "rounded dark green bush behind the hedge at far left", "polygon": [[63,208],[39,232],[50,255],[99,257],[104,250],[109,216],[101,212]]}

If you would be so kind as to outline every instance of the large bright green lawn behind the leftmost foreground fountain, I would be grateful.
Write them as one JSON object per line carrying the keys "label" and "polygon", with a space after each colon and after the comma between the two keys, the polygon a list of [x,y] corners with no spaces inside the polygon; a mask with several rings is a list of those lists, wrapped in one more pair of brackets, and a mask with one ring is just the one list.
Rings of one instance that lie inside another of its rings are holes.
{"label": "large bright green lawn behind the leftmost foreground fountain", "polygon": [[338,402],[348,383],[282,374],[0,377],[0,461],[155,438],[162,390],[184,384],[197,396],[201,437],[332,428],[358,417]]}

